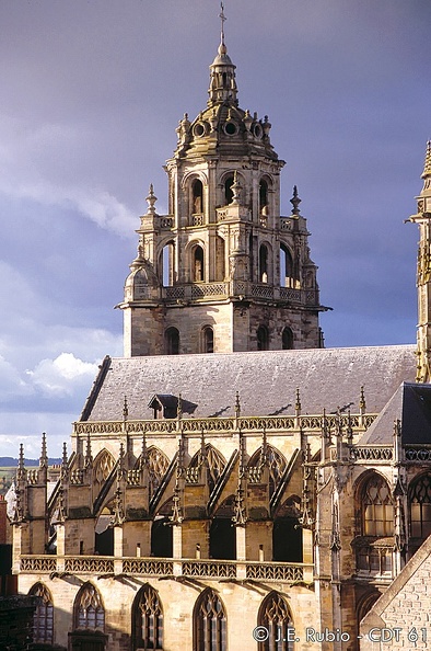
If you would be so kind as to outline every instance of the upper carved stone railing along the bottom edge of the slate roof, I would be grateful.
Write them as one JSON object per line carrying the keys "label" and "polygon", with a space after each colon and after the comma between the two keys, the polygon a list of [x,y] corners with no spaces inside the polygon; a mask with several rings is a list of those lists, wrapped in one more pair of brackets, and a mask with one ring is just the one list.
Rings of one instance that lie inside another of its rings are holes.
{"label": "upper carved stone railing along the bottom edge of the slate roof", "polygon": [[[323,419],[323,415],[286,415],[286,416],[241,416],[234,419],[228,418],[209,418],[209,419],[170,419],[170,420],[149,420],[149,421],[83,421],[73,424],[73,433],[78,435],[83,434],[173,434],[183,432],[184,434],[197,433],[199,436],[202,431],[210,432],[232,432],[241,430],[243,434],[253,432],[263,432],[265,430],[268,434],[277,433],[293,433],[300,429],[307,432],[321,432],[323,426],[330,431],[338,431],[341,429],[346,432],[351,427],[353,432],[364,432],[376,419],[377,414],[365,415],[348,415],[348,414],[328,414]],[[380,448],[382,446],[374,446]],[[387,447],[387,446],[384,446]],[[356,450],[362,448],[354,448]],[[370,449],[368,446],[364,449]],[[392,448],[391,448],[392,449]],[[354,453],[356,454],[356,453]],[[359,455],[362,453],[358,453]],[[364,453],[365,454],[365,453]]]}

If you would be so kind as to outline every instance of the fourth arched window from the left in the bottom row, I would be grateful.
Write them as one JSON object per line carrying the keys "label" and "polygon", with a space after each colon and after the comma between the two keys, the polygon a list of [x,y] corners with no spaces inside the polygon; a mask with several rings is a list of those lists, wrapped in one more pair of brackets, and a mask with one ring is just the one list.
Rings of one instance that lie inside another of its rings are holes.
{"label": "fourth arched window from the left in the bottom row", "polygon": [[219,595],[208,587],[196,602],[194,649],[226,651],[226,614]]}

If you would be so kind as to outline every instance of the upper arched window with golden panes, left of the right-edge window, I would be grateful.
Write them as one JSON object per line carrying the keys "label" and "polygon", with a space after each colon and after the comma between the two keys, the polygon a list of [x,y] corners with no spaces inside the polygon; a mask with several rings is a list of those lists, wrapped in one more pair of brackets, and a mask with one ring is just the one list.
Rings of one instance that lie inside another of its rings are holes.
{"label": "upper arched window with golden panes, left of the right-edge window", "polygon": [[362,534],[394,535],[394,506],[387,481],[373,473],[362,488]]}

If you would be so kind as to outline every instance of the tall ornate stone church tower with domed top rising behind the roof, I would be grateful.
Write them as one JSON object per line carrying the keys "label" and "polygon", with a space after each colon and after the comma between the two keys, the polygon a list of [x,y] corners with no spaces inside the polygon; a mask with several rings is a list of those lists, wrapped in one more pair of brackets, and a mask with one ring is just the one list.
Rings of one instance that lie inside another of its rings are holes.
{"label": "tall ornate stone church tower with domed top rising behind the roof", "polygon": [[280,216],[268,116],[238,106],[224,41],[207,107],[176,129],[166,162],[168,215],[153,187],[125,298],[125,356],[322,347],[317,267],[296,187]]}

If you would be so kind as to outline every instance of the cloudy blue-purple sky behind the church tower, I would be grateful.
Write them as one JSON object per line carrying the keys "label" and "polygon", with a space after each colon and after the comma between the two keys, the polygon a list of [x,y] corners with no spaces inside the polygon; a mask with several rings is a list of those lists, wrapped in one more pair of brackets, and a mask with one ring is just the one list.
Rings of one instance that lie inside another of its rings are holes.
{"label": "cloudy blue-purple sky behind the church tower", "polygon": [[[0,455],[58,455],[121,354],[135,228],[184,112],[206,106],[217,0],[0,0]],[[328,346],[412,343],[431,136],[430,0],[225,0],[240,105],[269,115],[319,265]]]}

